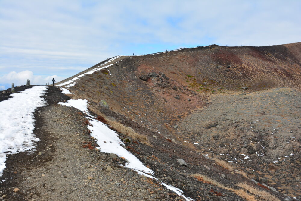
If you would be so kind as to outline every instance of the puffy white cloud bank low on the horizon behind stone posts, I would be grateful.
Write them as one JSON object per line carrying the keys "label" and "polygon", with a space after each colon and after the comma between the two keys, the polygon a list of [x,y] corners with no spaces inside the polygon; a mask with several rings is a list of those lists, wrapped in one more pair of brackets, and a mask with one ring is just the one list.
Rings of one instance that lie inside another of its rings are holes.
{"label": "puffy white cloud bank low on the horizon behind stone posts", "polygon": [[[21,71],[19,73],[15,71],[11,71],[8,74],[3,75],[0,77],[0,83],[3,85],[10,85],[11,83],[14,83],[15,86],[25,85],[27,79],[30,80],[31,85],[45,85],[46,83],[51,83],[52,78],[54,78],[56,81],[61,81],[64,78],[57,76],[57,75],[51,75],[51,76],[43,76],[43,75],[34,75],[32,71]],[[4,86],[0,86],[5,89]]]}

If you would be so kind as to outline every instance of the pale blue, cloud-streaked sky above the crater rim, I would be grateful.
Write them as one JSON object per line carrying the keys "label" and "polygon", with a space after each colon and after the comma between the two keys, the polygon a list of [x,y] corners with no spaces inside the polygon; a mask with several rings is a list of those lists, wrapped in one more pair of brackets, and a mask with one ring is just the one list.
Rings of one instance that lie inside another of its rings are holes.
{"label": "pale blue, cloud-streaked sky above the crater rim", "polygon": [[299,0],[0,0],[0,90],[116,55],[301,42],[300,11]]}

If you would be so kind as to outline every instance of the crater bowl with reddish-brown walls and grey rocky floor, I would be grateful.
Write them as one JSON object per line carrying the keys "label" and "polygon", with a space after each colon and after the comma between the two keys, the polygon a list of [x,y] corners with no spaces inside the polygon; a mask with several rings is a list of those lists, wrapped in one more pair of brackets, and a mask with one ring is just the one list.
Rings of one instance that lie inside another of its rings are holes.
{"label": "crater bowl with reddish-brown walls and grey rocky floor", "polygon": [[[212,45],[123,57],[80,78],[70,91],[146,135],[152,150],[166,148],[154,134],[174,139],[173,147],[184,147],[181,153],[233,162],[248,178],[297,197],[300,51],[301,43]],[[101,100],[110,108],[101,107]],[[164,152],[154,155],[161,160]],[[200,157],[189,157],[182,155],[200,163]]]}

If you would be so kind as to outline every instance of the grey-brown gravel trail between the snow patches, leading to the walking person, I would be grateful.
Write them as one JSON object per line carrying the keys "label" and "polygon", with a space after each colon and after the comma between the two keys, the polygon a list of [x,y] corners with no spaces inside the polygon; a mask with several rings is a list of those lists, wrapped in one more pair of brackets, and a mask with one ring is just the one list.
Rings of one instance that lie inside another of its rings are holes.
{"label": "grey-brown gravel trail between the snow patches, leading to the walking person", "polygon": [[[108,154],[83,148],[88,142],[95,144],[84,124],[86,118],[75,108],[57,104],[69,97],[54,87],[44,97],[49,105],[35,113],[34,132],[41,141],[33,153],[9,155],[2,176],[6,181],[0,184],[4,199],[169,200],[166,189],[115,165]],[[108,165],[113,171],[106,171]],[[14,193],[14,188],[20,192]]]}

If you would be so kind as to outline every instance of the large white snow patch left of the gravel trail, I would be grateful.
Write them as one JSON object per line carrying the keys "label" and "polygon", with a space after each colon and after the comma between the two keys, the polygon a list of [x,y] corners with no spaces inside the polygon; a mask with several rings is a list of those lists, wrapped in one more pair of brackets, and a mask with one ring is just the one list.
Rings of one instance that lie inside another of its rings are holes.
{"label": "large white snow patch left of the gravel trail", "polygon": [[34,86],[0,102],[0,176],[5,168],[6,154],[33,149],[34,142],[39,141],[33,134],[33,112],[46,104],[40,97],[46,90],[46,86]]}

